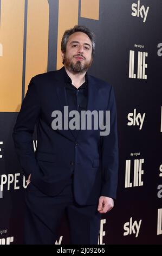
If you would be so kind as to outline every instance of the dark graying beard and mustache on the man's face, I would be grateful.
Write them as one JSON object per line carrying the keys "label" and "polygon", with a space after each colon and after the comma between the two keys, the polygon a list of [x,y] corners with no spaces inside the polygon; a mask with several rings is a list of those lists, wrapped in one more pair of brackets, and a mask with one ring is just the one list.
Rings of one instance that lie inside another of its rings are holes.
{"label": "dark graying beard and mustache on the man's face", "polygon": [[[77,54],[77,56],[83,57],[82,54]],[[93,59],[91,58],[89,62],[85,61],[82,63],[80,60],[77,60],[77,62],[74,63],[72,58],[68,58],[66,57],[66,54],[64,54],[64,66],[66,66],[66,68],[73,74],[81,74],[87,71],[92,65],[92,61]]]}

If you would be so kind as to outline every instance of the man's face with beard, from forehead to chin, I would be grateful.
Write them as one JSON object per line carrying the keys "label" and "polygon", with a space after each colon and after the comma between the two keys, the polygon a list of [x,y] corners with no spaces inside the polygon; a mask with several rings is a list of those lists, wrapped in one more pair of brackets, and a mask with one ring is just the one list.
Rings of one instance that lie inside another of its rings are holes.
{"label": "man's face with beard, from forehead to chin", "polygon": [[66,52],[62,52],[64,66],[74,74],[85,72],[92,64],[92,42],[87,34],[75,32],[69,36]]}

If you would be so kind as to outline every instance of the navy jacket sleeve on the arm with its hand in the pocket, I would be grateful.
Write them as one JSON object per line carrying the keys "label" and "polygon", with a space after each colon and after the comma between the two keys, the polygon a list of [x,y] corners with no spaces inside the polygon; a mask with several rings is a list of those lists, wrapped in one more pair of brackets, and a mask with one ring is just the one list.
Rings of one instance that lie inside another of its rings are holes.
{"label": "navy jacket sleeve on the arm with its hand in the pocket", "polygon": [[33,147],[33,132],[39,113],[40,97],[34,78],[31,78],[12,134],[18,160],[25,178],[28,178],[30,173],[32,174],[36,169],[39,169]]}

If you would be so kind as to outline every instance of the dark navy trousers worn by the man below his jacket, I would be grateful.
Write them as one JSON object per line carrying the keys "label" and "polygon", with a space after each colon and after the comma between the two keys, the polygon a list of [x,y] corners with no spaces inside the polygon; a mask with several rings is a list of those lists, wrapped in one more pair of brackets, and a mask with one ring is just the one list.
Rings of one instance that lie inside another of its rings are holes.
{"label": "dark navy trousers worn by the man below his jacket", "polygon": [[75,202],[73,179],[60,194],[49,197],[32,182],[25,191],[24,244],[54,245],[61,218],[66,212],[70,244],[97,245],[101,214],[98,205],[80,206]]}

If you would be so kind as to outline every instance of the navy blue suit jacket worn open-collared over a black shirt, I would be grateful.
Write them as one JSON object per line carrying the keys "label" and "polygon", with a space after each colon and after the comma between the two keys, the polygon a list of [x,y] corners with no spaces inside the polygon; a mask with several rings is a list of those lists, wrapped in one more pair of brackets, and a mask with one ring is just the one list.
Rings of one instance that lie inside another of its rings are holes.
{"label": "navy blue suit jacket worn open-collared over a black shirt", "polygon": [[[97,204],[100,196],[116,198],[118,136],[112,86],[88,75],[87,109],[111,111],[110,133],[98,130],[53,130],[51,113],[67,106],[63,69],[31,78],[14,127],[14,143],[26,178],[49,196],[59,194],[72,174],[74,196],[80,205]],[[69,111],[72,110],[69,107]],[[34,152],[33,132],[37,127]]]}

